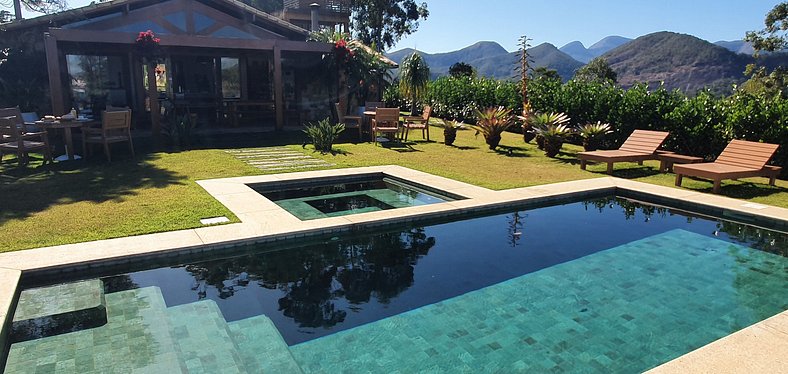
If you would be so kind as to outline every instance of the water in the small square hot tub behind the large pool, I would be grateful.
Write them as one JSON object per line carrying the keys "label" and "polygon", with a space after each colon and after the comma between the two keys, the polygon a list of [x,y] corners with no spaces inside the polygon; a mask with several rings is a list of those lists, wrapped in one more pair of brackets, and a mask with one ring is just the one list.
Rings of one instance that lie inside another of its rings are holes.
{"label": "water in the small square hot tub behind the large pool", "polygon": [[404,180],[376,176],[273,191],[262,186],[253,188],[303,221],[455,200],[446,193],[427,191]]}

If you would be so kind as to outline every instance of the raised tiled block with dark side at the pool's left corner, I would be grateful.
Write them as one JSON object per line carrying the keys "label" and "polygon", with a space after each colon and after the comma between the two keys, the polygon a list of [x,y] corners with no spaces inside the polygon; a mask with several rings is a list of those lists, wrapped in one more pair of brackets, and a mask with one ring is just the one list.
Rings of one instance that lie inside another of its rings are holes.
{"label": "raised tiled block with dark side at the pool's left corner", "polygon": [[105,305],[104,284],[99,279],[24,290],[14,313],[11,342],[104,325]]}

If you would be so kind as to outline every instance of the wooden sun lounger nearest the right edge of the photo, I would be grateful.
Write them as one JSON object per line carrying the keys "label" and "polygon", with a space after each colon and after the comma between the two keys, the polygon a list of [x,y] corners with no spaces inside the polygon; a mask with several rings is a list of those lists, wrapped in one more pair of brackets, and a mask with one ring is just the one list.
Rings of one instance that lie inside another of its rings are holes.
{"label": "wooden sun lounger nearest the right edge of the photo", "polygon": [[686,175],[713,180],[714,193],[720,192],[723,179],[768,176],[769,184],[774,186],[780,168],[766,163],[778,147],[777,144],[733,140],[714,162],[673,166],[676,185],[681,186],[681,179]]}

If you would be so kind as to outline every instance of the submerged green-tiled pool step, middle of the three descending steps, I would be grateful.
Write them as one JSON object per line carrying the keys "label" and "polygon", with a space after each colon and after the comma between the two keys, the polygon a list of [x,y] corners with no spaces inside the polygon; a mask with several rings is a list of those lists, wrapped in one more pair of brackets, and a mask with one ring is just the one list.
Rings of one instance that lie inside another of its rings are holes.
{"label": "submerged green-tiled pool step, middle of the three descending steps", "polygon": [[230,328],[213,300],[167,309],[178,355],[190,373],[254,373],[247,371],[230,336]]}

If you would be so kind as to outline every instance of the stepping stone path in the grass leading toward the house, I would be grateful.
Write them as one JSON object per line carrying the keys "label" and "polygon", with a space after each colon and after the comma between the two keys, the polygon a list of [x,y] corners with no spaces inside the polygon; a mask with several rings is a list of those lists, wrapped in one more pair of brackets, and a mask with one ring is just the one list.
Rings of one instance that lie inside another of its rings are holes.
{"label": "stepping stone path in the grass leading toward the house", "polygon": [[317,169],[334,165],[286,147],[234,149],[226,152],[265,171]]}

